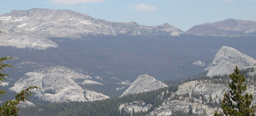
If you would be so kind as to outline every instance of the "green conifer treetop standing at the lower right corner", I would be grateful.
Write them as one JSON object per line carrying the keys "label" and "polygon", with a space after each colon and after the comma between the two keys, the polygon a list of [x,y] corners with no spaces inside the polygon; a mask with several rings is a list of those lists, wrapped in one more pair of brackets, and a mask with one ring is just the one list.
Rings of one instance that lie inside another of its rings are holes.
{"label": "green conifer treetop standing at the lower right corner", "polygon": [[255,105],[252,103],[252,94],[245,93],[246,83],[245,76],[239,74],[239,69],[236,67],[234,73],[230,75],[230,91],[225,92],[222,99],[222,110],[219,114],[215,111],[215,116],[254,116]]}

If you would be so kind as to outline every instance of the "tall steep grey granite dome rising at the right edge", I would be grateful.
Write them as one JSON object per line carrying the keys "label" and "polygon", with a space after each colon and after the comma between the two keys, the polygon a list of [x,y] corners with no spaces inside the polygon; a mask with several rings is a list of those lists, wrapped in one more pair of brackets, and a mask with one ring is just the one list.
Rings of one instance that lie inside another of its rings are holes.
{"label": "tall steep grey granite dome rising at the right edge", "polygon": [[232,47],[222,47],[215,54],[214,61],[206,69],[207,76],[230,75],[236,66],[239,69],[248,69],[252,68],[255,63],[256,61],[252,57],[242,54]]}

